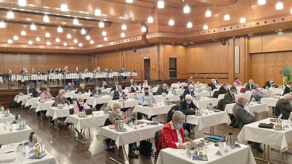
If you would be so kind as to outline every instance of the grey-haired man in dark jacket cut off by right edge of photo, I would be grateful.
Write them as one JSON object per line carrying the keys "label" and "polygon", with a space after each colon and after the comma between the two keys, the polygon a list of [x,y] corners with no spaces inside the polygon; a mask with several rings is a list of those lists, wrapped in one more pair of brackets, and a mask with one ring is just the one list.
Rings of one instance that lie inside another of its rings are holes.
{"label": "grey-haired man in dark jacket cut off by right edge of photo", "polygon": [[284,95],[283,98],[281,98],[276,106],[278,107],[278,112],[282,113],[282,119],[288,120],[290,116],[290,112],[292,112],[292,97],[290,94]]}

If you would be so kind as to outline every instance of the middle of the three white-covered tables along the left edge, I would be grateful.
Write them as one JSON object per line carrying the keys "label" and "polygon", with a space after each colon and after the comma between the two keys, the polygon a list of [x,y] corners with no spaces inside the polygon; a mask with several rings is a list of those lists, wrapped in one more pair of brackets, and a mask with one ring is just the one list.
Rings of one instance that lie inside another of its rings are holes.
{"label": "middle of the three white-covered tables along the left edge", "polygon": [[[3,127],[4,123],[0,123],[0,128]],[[17,143],[27,140],[29,138],[31,128],[26,125],[26,129],[15,130],[19,128],[19,124],[11,124],[12,132],[9,132],[9,124],[6,122],[7,130],[4,133],[0,133],[0,144],[6,145],[10,143]]]}

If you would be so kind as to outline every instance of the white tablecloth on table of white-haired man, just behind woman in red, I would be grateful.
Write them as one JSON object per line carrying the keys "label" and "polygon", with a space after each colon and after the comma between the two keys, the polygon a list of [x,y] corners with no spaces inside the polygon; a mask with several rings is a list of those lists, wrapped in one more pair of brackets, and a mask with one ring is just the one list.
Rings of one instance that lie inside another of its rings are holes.
{"label": "white tablecloth on table of white-haired man, just behind woman in red", "polygon": [[206,114],[207,109],[203,109],[203,112],[205,112],[203,116],[187,115],[186,123],[199,125],[199,130],[222,123],[226,123],[227,125],[231,123],[227,112],[214,112],[214,114],[211,115]]}

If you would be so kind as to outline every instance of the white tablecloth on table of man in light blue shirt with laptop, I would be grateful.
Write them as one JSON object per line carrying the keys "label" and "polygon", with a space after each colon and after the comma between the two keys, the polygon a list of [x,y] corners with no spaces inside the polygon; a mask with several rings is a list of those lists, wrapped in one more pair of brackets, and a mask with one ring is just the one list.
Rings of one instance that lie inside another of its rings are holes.
{"label": "white tablecloth on table of man in light blue shirt with laptop", "polygon": [[[155,105],[155,104],[154,104]],[[175,106],[175,104],[165,105],[165,106],[154,106],[153,108],[148,108],[147,106],[137,105],[135,106],[133,113],[143,113],[147,114],[148,118],[151,116],[158,115],[158,114],[167,114],[171,107]]]}

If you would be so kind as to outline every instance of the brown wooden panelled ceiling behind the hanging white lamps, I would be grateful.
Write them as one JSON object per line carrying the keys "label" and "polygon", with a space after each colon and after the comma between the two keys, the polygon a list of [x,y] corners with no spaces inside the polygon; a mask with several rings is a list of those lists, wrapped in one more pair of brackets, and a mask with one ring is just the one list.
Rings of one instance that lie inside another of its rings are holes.
{"label": "brown wooden panelled ceiling behind the hanging white lamps", "polygon": [[[26,0],[26,7],[19,6],[18,0],[0,0],[0,20],[4,20],[5,28],[0,28],[0,51],[34,51],[34,52],[104,52],[123,49],[131,46],[143,46],[152,43],[205,42],[213,39],[247,36],[248,34],[266,34],[274,31],[292,30],[291,0],[282,0],[284,9],[276,10],[277,0],[266,1],[258,5],[257,0],[164,0],[165,7],[157,8],[158,0],[134,0],[126,3],[125,0],[64,0],[68,11],[61,12],[62,0]],[[190,13],[184,14],[183,7],[189,4]],[[101,16],[95,16],[96,7],[101,9]],[[7,19],[8,9],[14,13],[13,19]],[[211,10],[212,16],[205,17],[206,9]],[[124,20],[127,11],[130,19]],[[224,20],[225,12],[230,15],[230,20]],[[43,15],[48,14],[49,22],[43,22]],[[147,23],[151,15],[153,23]],[[242,15],[246,23],[239,23]],[[73,25],[73,18],[78,18],[78,25]],[[168,21],[173,18],[174,26],[169,26]],[[99,28],[100,20],[105,22],[105,28]],[[192,22],[192,28],[187,28],[187,22]],[[122,22],[126,23],[127,30],[121,30]],[[30,24],[35,23],[37,30],[30,30]],[[203,30],[204,24],[208,30]],[[57,27],[62,26],[63,31],[57,32]],[[141,27],[146,26],[147,31],[141,32]],[[86,29],[86,34],[81,34],[81,28]],[[21,36],[21,30],[26,31]],[[102,31],[107,32],[108,41],[104,41]],[[45,37],[49,31],[50,37]],[[121,37],[121,32],[125,37]],[[71,39],[67,39],[67,34]],[[8,39],[18,35],[18,40]],[[90,35],[94,44],[86,40]],[[35,41],[39,36],[40,41]],[[56,42],[56,38],[61,42]],[[74,43],[73,39],[78,39]],[[33,44],[28,45],[28,41]],[[50,41],[51,45],[46,45]],[[67,46],[63,46],[66,42]],[[79,43],[83,46],[79,47]]]}

